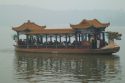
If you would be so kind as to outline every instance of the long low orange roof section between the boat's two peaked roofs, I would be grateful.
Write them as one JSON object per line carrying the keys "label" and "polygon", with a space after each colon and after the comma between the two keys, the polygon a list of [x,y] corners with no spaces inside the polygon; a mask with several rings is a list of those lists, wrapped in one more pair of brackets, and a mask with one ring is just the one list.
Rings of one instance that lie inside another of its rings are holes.
{"label": "long low orange roof section between the boat's two peaked roofs", "polygon": [[41,31],[28,32],[26,34],[67,34],[73,33],[73,29],[42,29]]}

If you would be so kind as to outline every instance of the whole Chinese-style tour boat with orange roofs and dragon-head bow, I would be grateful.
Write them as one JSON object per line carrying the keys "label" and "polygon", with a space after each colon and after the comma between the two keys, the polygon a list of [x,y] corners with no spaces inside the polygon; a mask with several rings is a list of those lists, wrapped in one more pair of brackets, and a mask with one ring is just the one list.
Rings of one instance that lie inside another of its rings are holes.
{"label": "whole Chinese-style tour boat with orange roofs and dragon-head bow", "polygon": [[28,20],[12,28],[17,32],[14,46],[21,52],[112,54],[120,49],[114,39],[119,40],[121,34],[106,32],[109,25],[84,19],[69,28],[46,28]]}

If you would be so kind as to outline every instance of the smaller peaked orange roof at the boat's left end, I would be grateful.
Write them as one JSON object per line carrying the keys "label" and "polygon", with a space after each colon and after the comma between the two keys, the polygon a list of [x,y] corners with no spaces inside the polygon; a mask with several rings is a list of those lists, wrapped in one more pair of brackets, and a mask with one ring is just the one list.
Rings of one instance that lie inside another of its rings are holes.
{"label": "smaller peaked orange roof at the boat's left end", "polygon": [[39,26],[33,22],[30,22],[30,20],[28,20],[26,23],[18,26],[18,27],[13,27],[12,29],[17,31],[17,32],[21,32],[21,31],[39,31],[46,28],[46,26]]}

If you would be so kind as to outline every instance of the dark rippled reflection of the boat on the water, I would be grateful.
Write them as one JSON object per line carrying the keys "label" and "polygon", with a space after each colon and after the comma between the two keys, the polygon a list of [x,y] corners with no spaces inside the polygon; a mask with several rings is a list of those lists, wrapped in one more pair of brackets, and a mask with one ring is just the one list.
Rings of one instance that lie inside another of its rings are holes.
{"label": "dark rippled reflection of the boat on the water", "polygon": [[26,83],[106,82],[120,75],[117,55],[16,52],[15,56],[17,80]]}

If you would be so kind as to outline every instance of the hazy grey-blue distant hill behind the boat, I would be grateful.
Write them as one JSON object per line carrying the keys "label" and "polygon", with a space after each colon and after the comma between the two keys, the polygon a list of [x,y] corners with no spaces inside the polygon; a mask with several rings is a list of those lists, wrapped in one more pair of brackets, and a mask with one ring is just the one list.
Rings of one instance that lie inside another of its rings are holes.
{"label": "hazy grey-blue distant hill behind the boat", "polygon": [[69,26],[83,19],[97,18],[101,22],[110,22],[112,26],[125,26],[123,10],[66,10],[54,11],[28,6],[0,6],[0,26],[16,26],[27,20],[47,26]]}

